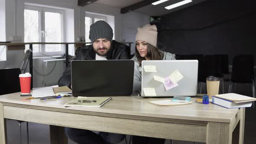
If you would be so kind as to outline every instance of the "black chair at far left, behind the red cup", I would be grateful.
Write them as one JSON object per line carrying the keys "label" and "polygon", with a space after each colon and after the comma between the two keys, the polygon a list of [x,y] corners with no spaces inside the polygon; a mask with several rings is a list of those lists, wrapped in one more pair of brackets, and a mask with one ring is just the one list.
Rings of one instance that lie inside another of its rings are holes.
{"label": "black chair at far left, behind the red cup", "polygon": [[[14,92],[20,92],[20,75],[21,71],[19,68],[16,69],[0,69],[0,75],[3,76],[3,81],[0,95],[6,95]],[[20,144],[21,144],[21,122],[19,123],[19,131],[20,131]],[[29,144],[29,132],[28,132],[28,122],[26,121],[26,130],[27,130],[27,144]]]}

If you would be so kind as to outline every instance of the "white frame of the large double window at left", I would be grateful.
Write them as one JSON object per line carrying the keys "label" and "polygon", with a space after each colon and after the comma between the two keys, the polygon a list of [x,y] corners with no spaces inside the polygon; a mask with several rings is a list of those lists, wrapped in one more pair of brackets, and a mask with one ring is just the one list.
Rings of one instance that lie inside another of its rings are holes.
{"label": "white frame of the large double window at left", "polygon": [[[25,5],[24,10],[35,10],[39,11],[39,43],[45,43],[45,12],[50,13],[59,13],[61,14],[61,43],[65,41],[65,10],[61,9],[54,9],[54,8],[48,8],[48,7],[36,7],[36,6],[30,6]],[[56,44],[57,45],[57,44]],[[65,46],[61,44],[61,51],[59,52],[46,52],[46,46],[47,45],[39,45],[39,52],[33,52],[33,56],[59,56],[63,55],[65,53]]]}

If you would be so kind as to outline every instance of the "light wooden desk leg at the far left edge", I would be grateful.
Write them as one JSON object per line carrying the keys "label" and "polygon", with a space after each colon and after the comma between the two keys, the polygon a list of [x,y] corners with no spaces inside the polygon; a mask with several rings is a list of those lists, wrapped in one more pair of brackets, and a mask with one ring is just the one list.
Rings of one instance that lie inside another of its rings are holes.
{"label": "light wooden desk leg at the far left edge", "polygon": [[0,103],[0,144],[7,144],[6,119],[3,118],[3,105]]}

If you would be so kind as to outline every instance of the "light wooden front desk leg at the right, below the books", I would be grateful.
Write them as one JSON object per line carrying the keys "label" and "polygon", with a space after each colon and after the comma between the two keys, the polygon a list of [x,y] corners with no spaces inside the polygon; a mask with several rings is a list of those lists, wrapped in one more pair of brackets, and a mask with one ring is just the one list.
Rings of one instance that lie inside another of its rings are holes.
{"label": "light wooden front desk leg at the right, below the books", "polygon": [[207,124],[206,144],[231,144],[232,128],[228,123],[209,122]]}

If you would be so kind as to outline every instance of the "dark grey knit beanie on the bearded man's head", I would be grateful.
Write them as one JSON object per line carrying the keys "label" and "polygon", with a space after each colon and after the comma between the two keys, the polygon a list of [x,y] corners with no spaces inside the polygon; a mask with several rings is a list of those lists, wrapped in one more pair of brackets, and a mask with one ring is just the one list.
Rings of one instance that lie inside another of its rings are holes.
{"label": "dark grey knit beanie on the bearded man's head", "polygon": [[99,20],[90,26],[89,39],[92,43],[96,39],[108,39],[112,42],[113,29],[104,20]]}

